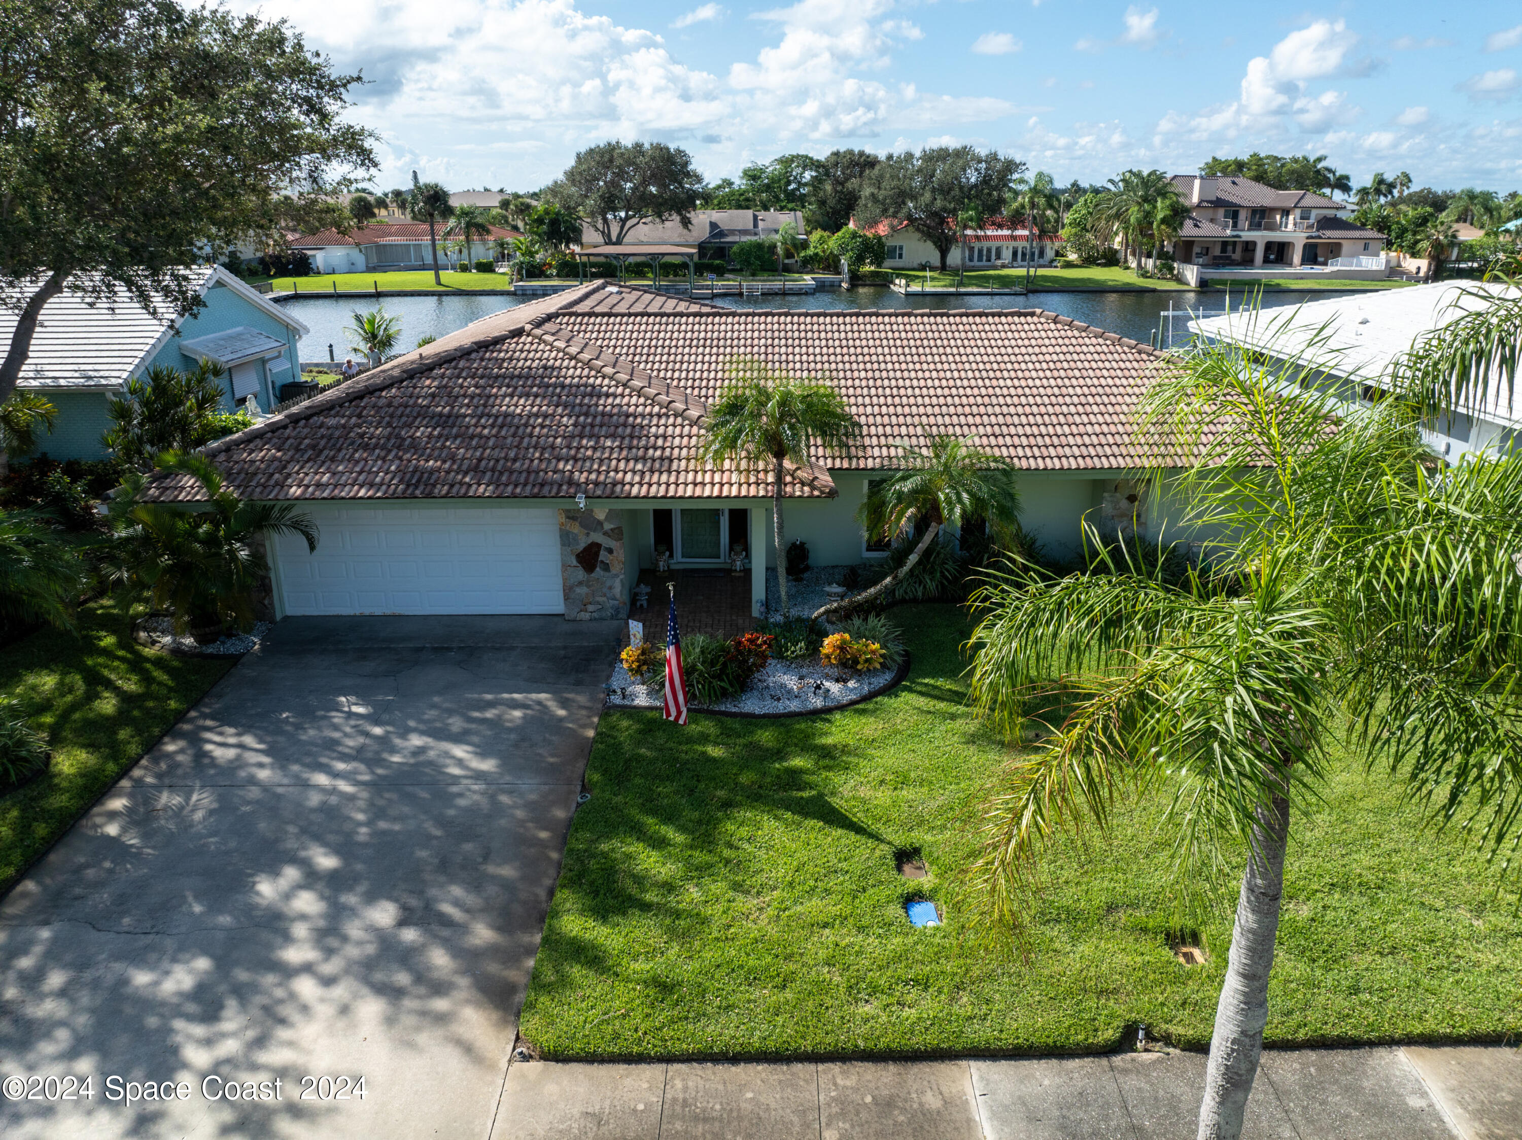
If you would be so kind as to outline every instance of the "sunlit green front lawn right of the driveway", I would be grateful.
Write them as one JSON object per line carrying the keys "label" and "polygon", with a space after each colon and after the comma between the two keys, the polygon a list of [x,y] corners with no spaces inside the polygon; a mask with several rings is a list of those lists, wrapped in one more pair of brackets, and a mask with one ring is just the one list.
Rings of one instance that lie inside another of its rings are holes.
{"label": "sunlit green front lawn right of the driveway", "polygon": [[[1157,802],[1064,846],[1029,960],[965,938],[957,881],[1006,752],[963,703],[963,615],[892,616],[913,668],[857,708],[603,715],[524,1006],[545,1056],[1085,1052],[1138,1021],[1208,1041],[1228,921],[1202,931],[1204,966],[1172,957]],[[1353,761],[1324,796],[1294,820],[1268,1040],[1522,1029],[1522,921],[1495,875]],[[893,868],[913,846],[922,884]],[[909,927],[916,887],[945,927]]]}

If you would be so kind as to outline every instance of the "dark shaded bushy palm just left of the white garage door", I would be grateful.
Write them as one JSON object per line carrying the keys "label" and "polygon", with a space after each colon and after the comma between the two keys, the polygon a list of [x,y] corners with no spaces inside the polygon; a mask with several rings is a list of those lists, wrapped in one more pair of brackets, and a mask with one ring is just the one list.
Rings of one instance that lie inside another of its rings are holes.
{"label": "dark shaded bushy palm just left of the white garage door", "polygon": [[291,502],[245,502],[227,489],[204,455],[166,452],[157,467],[196,484],[204,502],[145,502],[148,476],[128,475],[108,511],[116,540],[108,578],[119,589],[146,591],[174,616],[175,632],[216,641],[231,624],[254,623],[253,592],[269,565],[257,539],[298,534],[317,551],[317,527]]}

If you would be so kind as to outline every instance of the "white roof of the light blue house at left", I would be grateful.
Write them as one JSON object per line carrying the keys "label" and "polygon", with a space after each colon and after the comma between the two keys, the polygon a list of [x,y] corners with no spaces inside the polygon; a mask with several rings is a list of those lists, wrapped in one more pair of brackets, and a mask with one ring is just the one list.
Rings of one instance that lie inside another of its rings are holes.
{"label": "white roof of the light blue house at left", "polygon": [[[237,292],[256,307],[272,315],[298,336],[307,329],[301,321],[282,312],[280,306],[244,285],[221,266],[186,269],[204,295],[215,283]],[[17,307],[24,291],[8,289],[6,301],[15,307],[0,307],[0,344],[9,344],[15,332]],[[178,318],[154,317],[143,306],[117,292],[110,301],[90,301],[67,288],[43,309],[32,336],[32,349],[21,365],[23,388],[119,388],[175,335]],[[193,327],[193,326],[192,326]],[[251,332],[251,330],[250,330]],[[262,335],[262,333],[260,333]]]}

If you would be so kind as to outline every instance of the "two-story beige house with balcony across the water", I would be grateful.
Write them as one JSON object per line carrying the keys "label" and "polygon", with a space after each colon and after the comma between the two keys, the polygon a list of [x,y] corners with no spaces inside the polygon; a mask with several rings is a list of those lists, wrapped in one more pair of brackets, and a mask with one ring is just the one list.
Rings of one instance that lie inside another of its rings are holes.
{"label": "two-story beige house with balcony across the water", "polygon": [[[1251,178],[1175,174],[1189,219],[1169,253],[1181,265],[1212,269],[1326,268],[1370,257],[1383,269],[1385,237],[1348,221],[1353,207],[1307,190],[1275,190]],[[1143,251],[1151,254],[1151,251]]]}

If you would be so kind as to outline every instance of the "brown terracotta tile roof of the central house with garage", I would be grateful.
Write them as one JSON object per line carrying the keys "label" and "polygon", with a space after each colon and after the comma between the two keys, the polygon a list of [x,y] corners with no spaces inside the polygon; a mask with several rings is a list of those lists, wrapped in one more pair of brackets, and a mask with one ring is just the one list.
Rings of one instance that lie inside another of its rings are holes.
{"label": "brown terracotta tile roof of the central house with garage", "polygon": [[[738,356],[828,377],[863,425],[826,467],[892,469],[898,443],[954,432],[1027,470],[1146,460],[1131,412],[1160,355],[1017,310],[735,310],[603,282],[507,309],[207,446],[256,499],[770,495],[766,472],[693,463]],[[190,501],[180,476],[154,498]]]}

